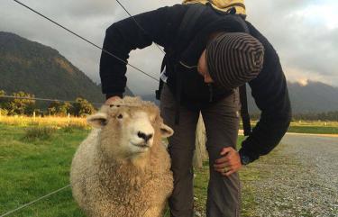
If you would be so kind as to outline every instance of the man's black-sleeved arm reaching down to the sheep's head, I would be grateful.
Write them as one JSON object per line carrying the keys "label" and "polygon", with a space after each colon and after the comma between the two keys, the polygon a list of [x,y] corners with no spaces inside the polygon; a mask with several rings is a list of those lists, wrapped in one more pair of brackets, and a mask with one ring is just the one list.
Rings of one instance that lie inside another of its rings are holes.
{"label": "man's black-sleeved arm reaching down to the sheep's head", "polygon": [[175,19],[185,10],[184,5],[162,7],[114,23],[106,30],[103,49],[124,61],[115,59],[105,51],[101,54],[100,77],[106,98],[115,95],[122,97],[127,80],[125,62],[130,51],[150,46],[152,41],[166,47],[173,38],[171,34],[175,25],[172,23],[175,24]]}

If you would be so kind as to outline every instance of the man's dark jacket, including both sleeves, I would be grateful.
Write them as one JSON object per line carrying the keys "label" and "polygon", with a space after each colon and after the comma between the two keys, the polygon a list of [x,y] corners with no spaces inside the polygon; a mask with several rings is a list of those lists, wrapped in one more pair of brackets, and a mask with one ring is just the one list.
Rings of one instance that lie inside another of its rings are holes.
{"label": "man's dark jacket, including both sleeves", "polygon": [[[210,87],[206,86],[203,77],[196,71],[198,59],[212,32],[245,32],[258,39],[265,48],[264,66],[258,77],[251,80],[251,95],[260,108],[260,122],[253,128],[251,135],[242,142],[241,155],[251,160],[268,154],[276,147],[291,119],[291,108],[288,98],[288,87],[279,57],[269,41],[260,34],[249,22],[243,25],[238,15],[224,15],[208,7],[192,28],[190,35],[177,38],[178,28],[187,9],[191,5],[174,5],[162,7],[158,10],[139,14],[133,18],[114,23],[106,30],[104,50],[113,53],[118,58],[126,60],[129,52],[150,46],[154,41],[164,47],[169,54],[174,53],[174,60],[169,61],[169,86],[175,92],[177,78],[183,83],[183,105],[200,106],[210,101]],[[178,41],[178,42],[177,42]],[[160,60],[160,59],[159,59]],[[176,68],[177,73],[171,73]],[[100,77],[103,93],[107,96],[122,96],[126,85],[126,66],[118,59],[114,59],[105,52],[100,62]],[[213,87],[212,102],[228,95],[217,87]]]}

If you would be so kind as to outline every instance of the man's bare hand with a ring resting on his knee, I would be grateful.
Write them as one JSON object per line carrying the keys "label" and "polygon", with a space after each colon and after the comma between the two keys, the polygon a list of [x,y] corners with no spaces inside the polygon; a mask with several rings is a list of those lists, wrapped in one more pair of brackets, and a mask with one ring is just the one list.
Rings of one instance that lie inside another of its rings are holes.
{"label": "man's bare hand with a ring resting on his knee", "polygon": [[215,160],[214,168],[223,176],[230,176],[242,167],[240,154],[232,147],[222,149],[221,156]]}

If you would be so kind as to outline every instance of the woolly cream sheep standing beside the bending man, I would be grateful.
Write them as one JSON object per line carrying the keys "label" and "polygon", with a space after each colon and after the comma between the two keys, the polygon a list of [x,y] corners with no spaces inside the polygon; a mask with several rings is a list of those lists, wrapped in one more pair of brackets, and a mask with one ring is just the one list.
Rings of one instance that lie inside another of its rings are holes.
{"label": "woolly cream sheep standing beside the bending man", "polygon": [[88,216],[160,217],[173,189],[159,108],[138,97],[103,105],[72,161],[73,196]]}

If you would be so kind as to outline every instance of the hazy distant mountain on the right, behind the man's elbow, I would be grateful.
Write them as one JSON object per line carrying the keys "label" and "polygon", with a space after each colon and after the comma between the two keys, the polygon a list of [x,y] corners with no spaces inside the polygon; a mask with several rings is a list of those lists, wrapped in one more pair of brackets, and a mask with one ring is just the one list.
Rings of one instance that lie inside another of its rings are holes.
{"label": "hazy distant mountain on the right, behind the man's elbow", "polygon": [[[250,113],[259,113],[248,90]],[[326,113],[338,111],[338,87],[308,80],[305,84],[288,82],[293,113]]]}

